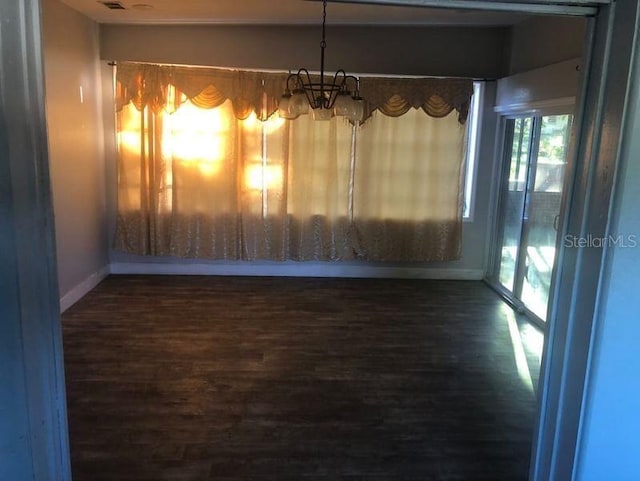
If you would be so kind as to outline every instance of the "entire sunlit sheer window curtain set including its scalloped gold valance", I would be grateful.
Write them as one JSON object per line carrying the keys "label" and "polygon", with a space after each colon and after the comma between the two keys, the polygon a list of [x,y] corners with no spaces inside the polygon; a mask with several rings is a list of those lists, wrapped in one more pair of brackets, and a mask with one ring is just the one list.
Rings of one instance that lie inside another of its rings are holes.
{"label": "entire sunlit sheer window curtain set including its scalloped gold valance", "polygon": [[[422,101],[409,95],[415,86],[389,88],[386,99],[372,94],[378,106],[362,125],[285,121],[274,112],[286,75],[176,69],[118,66],[116,248],[228,260],[459,258],[471,93],[456,107],[456,89],[422,86],[431,92]],[[398,99],[399,116],[386,115]]]}

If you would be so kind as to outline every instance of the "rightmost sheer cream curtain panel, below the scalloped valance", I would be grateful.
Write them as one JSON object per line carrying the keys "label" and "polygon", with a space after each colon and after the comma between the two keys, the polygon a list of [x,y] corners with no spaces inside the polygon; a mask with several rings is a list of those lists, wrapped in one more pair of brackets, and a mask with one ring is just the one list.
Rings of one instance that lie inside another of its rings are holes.
{"label": "rightmost sheer cream curtain panel, below the scalloped valance", "polygon": [[460,255],[465,128],[411,109],[381,113],[356,135],[354,222],[372,260],[447,260]]}

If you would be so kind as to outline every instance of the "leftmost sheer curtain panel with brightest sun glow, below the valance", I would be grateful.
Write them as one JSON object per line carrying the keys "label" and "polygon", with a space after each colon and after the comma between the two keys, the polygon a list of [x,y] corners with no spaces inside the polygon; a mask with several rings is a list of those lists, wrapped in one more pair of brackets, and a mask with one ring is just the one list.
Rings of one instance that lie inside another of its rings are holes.
{"label": "leftmost sheer curtain panel with brightest sun glow, below the valance", "polygon": [[231,103],[118,113],[116,246],[143,255],[240,257],[238,156]]}

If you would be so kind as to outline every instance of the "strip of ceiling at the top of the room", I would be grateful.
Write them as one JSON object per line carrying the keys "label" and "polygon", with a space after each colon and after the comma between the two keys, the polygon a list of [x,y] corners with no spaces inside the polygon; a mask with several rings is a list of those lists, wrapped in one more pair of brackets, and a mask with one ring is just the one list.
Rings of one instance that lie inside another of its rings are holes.
{"label": "strip of ceiling at the top of the room", "polygon": [[[99,23],[319,24],[322,5],[308,0],[119,0],[110,10],[98,0],[62,0]],[[330,3],[327,25],[513,25],[522,14]]]}

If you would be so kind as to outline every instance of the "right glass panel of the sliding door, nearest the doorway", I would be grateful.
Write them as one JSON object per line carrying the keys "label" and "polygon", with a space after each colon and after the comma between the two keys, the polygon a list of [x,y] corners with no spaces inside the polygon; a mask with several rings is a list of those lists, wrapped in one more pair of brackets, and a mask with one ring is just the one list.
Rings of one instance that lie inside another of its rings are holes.
{"label": "right glass panel of the sliding door, nearest the doorway", "polygon": [[524,305],[545,320],[560,216],[562,185],[571,128],[570,115],[540,118],[537,155],[531,160],[522,249],[526,253],[522,292]]}

